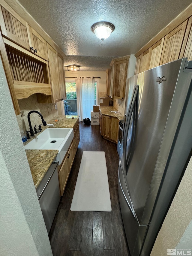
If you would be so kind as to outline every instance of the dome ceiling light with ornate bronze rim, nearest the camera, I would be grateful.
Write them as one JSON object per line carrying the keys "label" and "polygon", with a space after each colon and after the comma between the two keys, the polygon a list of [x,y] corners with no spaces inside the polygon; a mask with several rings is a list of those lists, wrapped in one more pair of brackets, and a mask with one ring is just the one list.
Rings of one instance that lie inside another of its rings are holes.
{"label": "dome ceiling light with ornate bronze rim, nearest the camera", "polygon": [[115,26],[107,21],[97,22],[91,26],[91,30],[95,33],[96,37],[101,39],[102,43],[111,35],[114,29]]}

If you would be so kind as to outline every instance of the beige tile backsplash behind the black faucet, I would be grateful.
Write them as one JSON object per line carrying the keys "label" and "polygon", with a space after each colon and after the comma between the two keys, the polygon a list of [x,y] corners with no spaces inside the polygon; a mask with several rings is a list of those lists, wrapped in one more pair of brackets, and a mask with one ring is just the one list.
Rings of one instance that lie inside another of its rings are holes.
{"label": "beige tile backsplash behind the black faucet", "polygon": [[[20,132],[29,131],[29,122],[27,115],[30,111],[36,110],[40,112],[46,122],[58,116],[57,110],[55,110],[55,104],[44,104],[37,102],[36,94],[31,95],[27,99],[18,100],[20,111],[24,111],[25,116],[16,116],[19,125]],[[42,124],[41,117],[37,113],[32,113],[30,115],[30,120],[32,128],[37,125]]]}

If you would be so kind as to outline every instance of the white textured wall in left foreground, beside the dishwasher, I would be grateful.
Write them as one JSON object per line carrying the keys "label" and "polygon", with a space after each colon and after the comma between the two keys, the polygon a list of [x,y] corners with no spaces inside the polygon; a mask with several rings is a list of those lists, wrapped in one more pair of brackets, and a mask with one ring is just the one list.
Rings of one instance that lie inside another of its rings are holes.
{"label": "white textured wall in left foreground, beside the dishwasher", "polygon": [[0,58],[0,255],[52,255]]}

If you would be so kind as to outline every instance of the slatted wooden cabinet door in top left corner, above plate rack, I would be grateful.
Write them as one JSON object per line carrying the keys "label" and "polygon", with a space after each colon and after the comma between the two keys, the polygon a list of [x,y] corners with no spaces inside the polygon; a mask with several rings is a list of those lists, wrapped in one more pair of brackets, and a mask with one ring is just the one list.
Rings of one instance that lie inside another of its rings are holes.
{"label": "slatted wooden cabinet door in top left corner, above plate rack", "polygon": [[29,25],[5,2],[1,2],[0,26],[2,35],[29,50]]}

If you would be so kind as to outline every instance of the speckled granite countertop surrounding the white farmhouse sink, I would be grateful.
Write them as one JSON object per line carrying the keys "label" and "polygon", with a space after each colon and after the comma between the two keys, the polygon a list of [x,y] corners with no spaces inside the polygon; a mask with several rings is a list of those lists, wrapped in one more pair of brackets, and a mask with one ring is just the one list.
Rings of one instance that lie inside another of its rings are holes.
{"label": "speckled granite countertop surrounding the white farmhouse sink", "polygon": [[[42,131],[44,131],[46,128],[73,128],[78,118],[79,116],[56,116],[54,119],[51,119],[47,122],[47,124],[53,124],[53,126],[42,126],[41,128]],[[38,134],[40,133],[35,134],[34,137],[31,137],[30,140],[24,142],[23,145],[25,146],[36,136],[38,136]],[[29,162],[29,167],[31,169],[35,188],[37,188],[40,184],[57,154],[58,150],[26,149],[26,155]]]}

